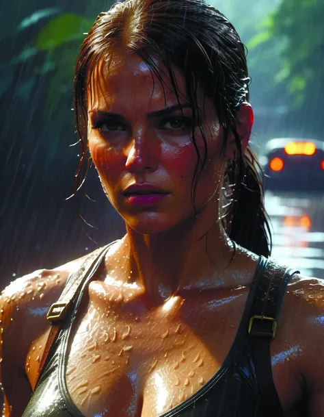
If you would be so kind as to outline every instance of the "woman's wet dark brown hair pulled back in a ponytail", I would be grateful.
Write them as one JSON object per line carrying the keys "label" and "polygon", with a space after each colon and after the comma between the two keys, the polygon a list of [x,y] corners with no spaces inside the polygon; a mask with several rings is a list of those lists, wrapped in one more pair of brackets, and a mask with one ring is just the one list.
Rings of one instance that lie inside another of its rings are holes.
{"label": "woman's wet dark brown hair pulled back in a ponytail", "polygon": [[[232,132],[237,151],[227,160],[221,189],[221,219],[228,236],[258,255],[271,253],[271,231],[264,205],[264,192],[256,155],[247,147],[242,151],[237,131],[240,105],[248,101],[249,76],[245,47],[237,31],[219,10],[201,0],[127,0],[115,3],[100,13],[85,38],[75,67],[75,114],[80,139],[80,164],[75,176],[78,189],[83,183],[87,160],[87,88],[103,58],[108,62],[116,50],[138,55],[161,84],[159,58],[166,68],[178,102],[174,68],[184,76],[187,101],[198,120],[204,140],[204,155],[191,140],[198,162],[193,177],[192,201],[204,168],[207,144],[202,123],[195,114],[198,86],[215,106],[224,127],[224,144]],[[90,84],[91,86],[91,84]]]}

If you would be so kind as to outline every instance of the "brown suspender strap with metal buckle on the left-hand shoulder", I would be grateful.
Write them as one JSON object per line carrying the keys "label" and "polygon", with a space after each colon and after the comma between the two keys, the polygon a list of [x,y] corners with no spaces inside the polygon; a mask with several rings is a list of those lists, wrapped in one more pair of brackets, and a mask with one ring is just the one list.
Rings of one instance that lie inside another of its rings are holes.
{"label": "brown suspender strap with metal buckle on the left-hand shoulder", "polygon": [[105,257],[109,247],[111,247],[111,245],[115,242],[111,242],[104,248],[97,249],[89,256],[87,256],[85,261],[81,265],[81,268],[79,268],[74,274],[72,274],[68,278],[66,286],[61,296],[59,297],[59,301],[51,305],[49,312],[47,313],[47,318],[51,321],[52,327],[49,333],[49,337],[46,341],[42,359],[40,361],[40,368],[38,370],[36,386],[40,381],[40,377],[42,375],[42,371],[44,370],[44,366],[47,362],[47,359],[49,359],[50,357],[49,353],[51,351],[51,347],[54,345],[54,342],[57,339],[60,329],[62,329],[62,325],[67,314],[73,311],[75,301],[77,300],[77,296],[83,286],[83,283],[87,279],[91,279],[91,277],[98,269],[98,266],[100,265],[101,261],[103,260],[103,257]]}

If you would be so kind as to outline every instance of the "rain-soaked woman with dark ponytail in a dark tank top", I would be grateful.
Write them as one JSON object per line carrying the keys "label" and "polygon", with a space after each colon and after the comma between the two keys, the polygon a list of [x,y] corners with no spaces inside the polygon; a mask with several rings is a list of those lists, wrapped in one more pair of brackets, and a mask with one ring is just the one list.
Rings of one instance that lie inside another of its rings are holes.
{"label": "rain-soaked woman with dark ponytail in a dark tank top", "polygon": [[76,66],[77,187],[89,147],[126,235],[5,288],[4,416],[324,415],[323,285],[267,260],[248,82],[201,1],[98,16]]}

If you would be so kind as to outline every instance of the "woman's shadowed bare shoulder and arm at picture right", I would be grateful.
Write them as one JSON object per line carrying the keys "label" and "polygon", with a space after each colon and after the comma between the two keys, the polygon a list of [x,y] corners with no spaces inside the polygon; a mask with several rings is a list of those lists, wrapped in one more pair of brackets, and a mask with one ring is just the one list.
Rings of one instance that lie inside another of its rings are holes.
{"label": "woman's shadowed bare shoulder and arm at picture right", "polygon": [[294,275],[282,307],[282,334],[310,399],[310,416],[323,416],[324,279]]}

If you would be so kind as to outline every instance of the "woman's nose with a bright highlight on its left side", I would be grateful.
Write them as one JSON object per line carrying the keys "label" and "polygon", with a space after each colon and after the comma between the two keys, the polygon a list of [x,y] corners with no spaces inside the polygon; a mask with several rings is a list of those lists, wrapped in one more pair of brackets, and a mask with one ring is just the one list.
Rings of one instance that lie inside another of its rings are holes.
{"label": "woman's nose with a bright highlight on its left side", "polygon": [[143,135],[134,137],[129,144],[126,160],[126,169],[134,173],[142,171],[153,172],[159,166],[157,150],[154,149],[153,139],[144,138]]}

